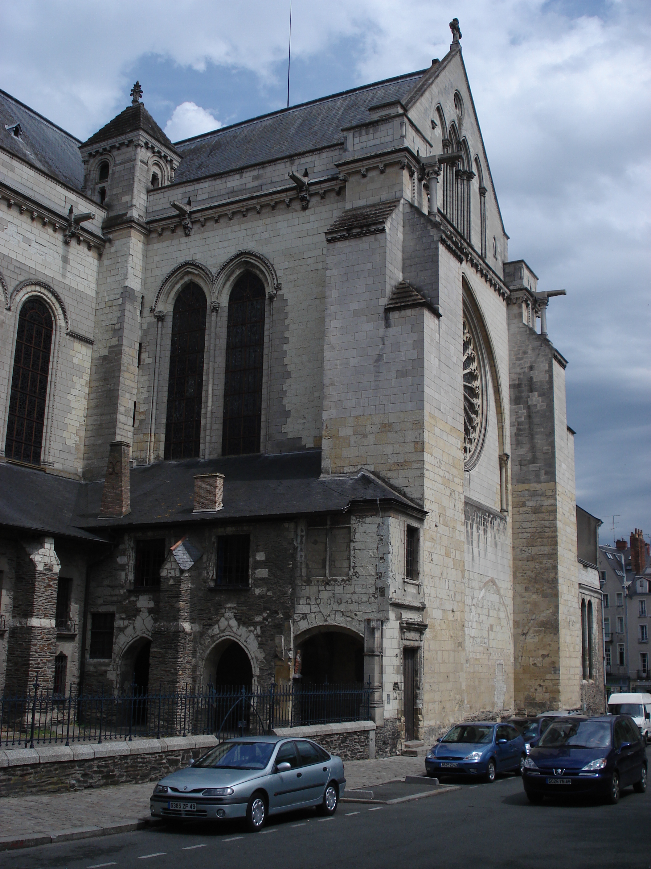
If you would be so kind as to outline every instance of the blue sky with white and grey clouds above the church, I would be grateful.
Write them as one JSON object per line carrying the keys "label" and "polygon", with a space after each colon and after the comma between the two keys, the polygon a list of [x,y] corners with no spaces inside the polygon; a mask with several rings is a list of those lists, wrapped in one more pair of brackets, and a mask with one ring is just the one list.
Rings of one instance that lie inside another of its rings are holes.
{"label": "blue sky with white and grey clouds above the church", "polygon": [[[138,78],[174,141],[286,104],[287,0],[2,0],[0,87],[86,138]],[[651,3],[294,0],[291,103],[427,67],[458,17],[510,258],[569,359],[576,498],[651,534]]]}

